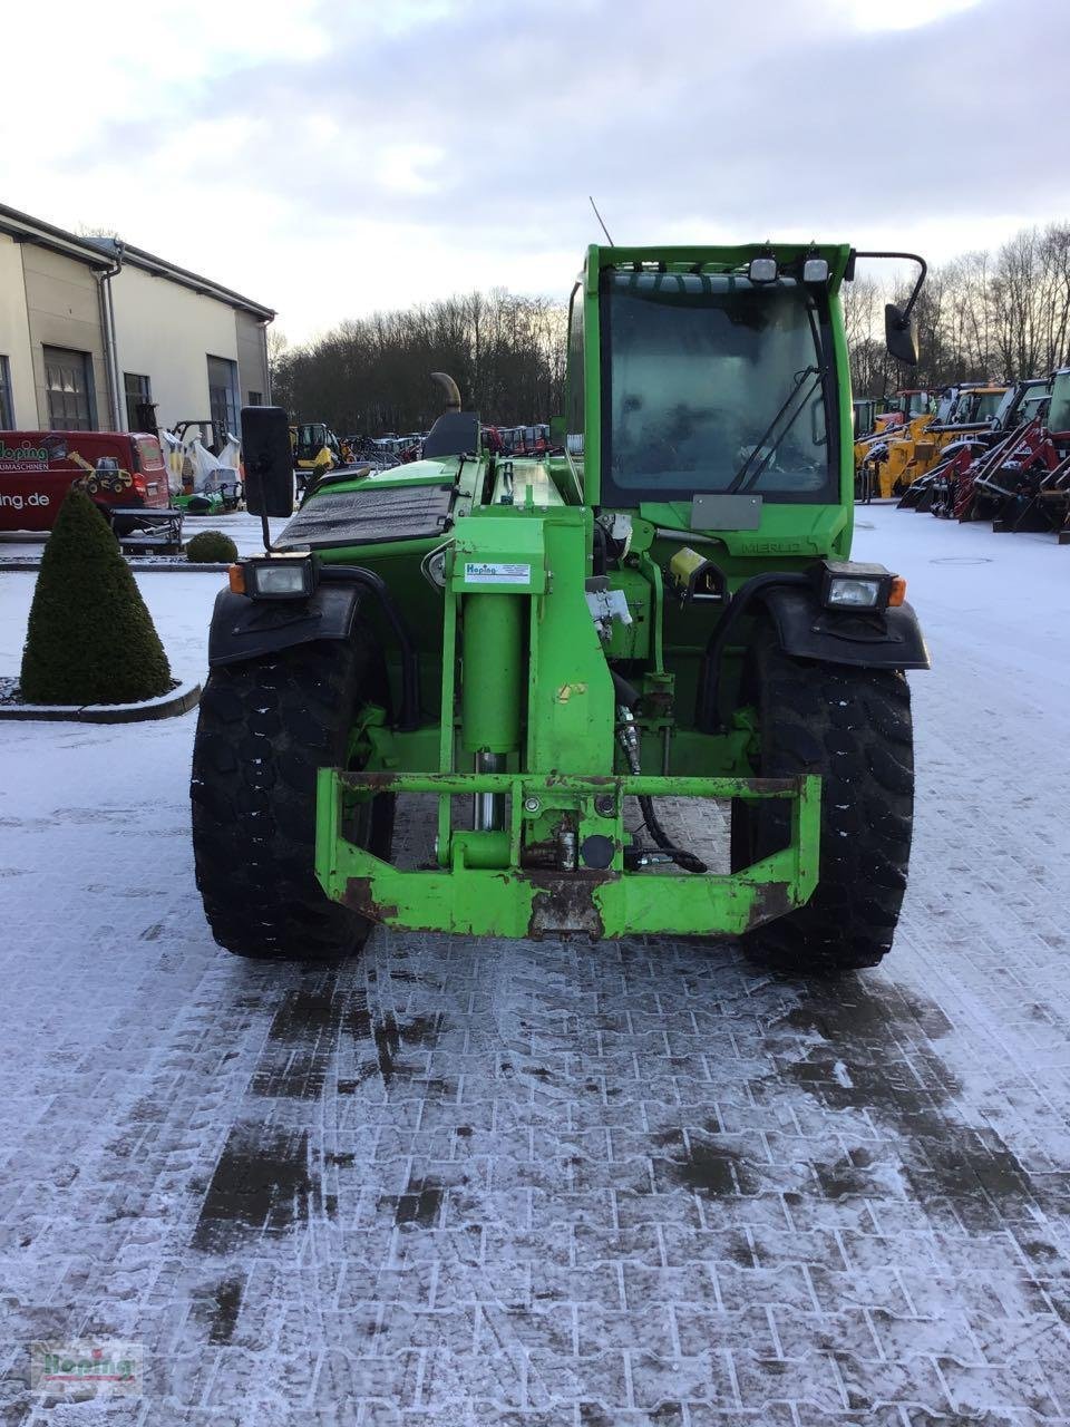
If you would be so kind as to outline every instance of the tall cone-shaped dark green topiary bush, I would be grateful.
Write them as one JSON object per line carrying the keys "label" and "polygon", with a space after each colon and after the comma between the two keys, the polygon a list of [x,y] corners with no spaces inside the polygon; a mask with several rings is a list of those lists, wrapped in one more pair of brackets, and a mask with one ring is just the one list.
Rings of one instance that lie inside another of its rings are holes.
{"label": "tall cone-shaped dark green topiary bush", "polygon": [[29,704],[137,704],[171,669],[116,537],[84,491],[67,494],[41,557],[19,678]]}

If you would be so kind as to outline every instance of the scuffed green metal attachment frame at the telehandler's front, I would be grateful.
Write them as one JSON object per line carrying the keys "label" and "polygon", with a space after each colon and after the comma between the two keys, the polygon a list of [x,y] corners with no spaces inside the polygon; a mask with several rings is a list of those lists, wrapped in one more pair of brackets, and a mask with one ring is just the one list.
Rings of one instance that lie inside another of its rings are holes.
{"label": "scuffed green metal attachment frame at the telehandler's front", "polygon": [[[820,789],[799,778],[571,776],[545,773],[342,772],[322,768],[317,788],[315,872],[330,898],[375,922],[407,930],[468,936],[542,938],[586,933],[740,935],[803,906],[819,875]],[[441,799],[504,793],[508,828],[455,832],[445,868],[402,870],[342,835],[347,801],[379,793],[437,793]],[[678,868],[623,870],[623,801],[629,796],[785,799],[788,846],[733,873]],[[526,808],[559,806],[613,841],[605,869],[521,866]]]}

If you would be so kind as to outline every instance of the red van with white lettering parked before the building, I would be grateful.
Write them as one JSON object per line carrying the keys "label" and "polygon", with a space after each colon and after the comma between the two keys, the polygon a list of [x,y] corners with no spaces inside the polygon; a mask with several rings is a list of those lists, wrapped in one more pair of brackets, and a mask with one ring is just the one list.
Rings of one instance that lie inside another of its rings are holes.
{"label": "red van with white lettering parked before the building", "polygon": [[[171,504],[160,442],[141,431],[0,431],[0,532],[50,531],[64,495],[78,484],[108,508]],[[137,525],[114,521],[118,534]]]}

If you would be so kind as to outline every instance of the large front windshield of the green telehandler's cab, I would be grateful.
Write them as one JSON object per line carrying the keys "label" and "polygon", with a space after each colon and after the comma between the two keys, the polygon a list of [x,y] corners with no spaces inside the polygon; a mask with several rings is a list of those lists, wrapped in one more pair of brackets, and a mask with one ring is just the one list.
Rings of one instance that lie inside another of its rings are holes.
{"label": "large front windshield of the green telehandler's cab", "polygon": [[602,314],[603,502],[836,498],[823,294],[790,278],[613,273]]}

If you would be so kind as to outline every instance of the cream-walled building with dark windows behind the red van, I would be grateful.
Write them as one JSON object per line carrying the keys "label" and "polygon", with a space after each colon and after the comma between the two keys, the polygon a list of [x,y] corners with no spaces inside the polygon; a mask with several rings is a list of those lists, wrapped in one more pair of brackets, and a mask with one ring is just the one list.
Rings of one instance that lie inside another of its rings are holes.
{"label": "cream-walled building with dark windows behind the red van", "polygon": [[136,431],[270,400],[270,307],[0,204],[0,430]]}

